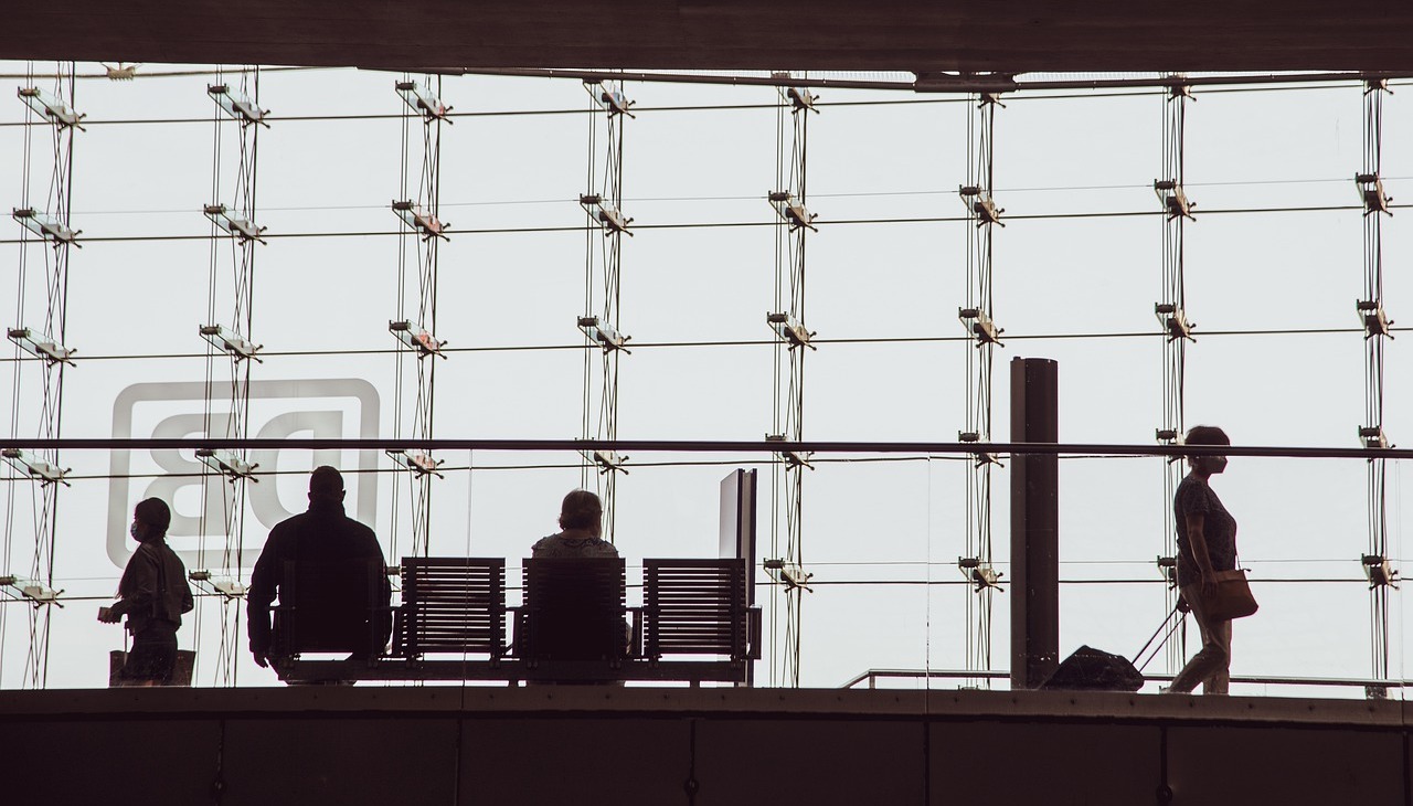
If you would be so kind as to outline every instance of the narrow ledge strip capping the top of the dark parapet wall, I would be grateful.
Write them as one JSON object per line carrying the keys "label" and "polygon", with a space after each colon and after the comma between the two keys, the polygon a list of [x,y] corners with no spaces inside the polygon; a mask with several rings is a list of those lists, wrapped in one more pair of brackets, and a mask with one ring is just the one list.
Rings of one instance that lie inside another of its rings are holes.
{"label": "narrow ledge strip capping the top of the dark parapet wall", "polygon": [[1061,721],[1331,725],[1403,730],[1399,700],[1198,697],[1089,691],[839,689],[619,689],[603,686],[99,689],[0,693],[0,724],[45,718],[260,716],[601,714],[633,717],[848,717],[928,721]]}

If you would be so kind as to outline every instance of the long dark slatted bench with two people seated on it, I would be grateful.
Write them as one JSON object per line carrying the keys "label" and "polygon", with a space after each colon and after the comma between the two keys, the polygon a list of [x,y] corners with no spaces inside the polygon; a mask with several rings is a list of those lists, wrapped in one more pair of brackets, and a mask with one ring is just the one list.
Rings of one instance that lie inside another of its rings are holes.
{"label": "long dark slatted bench with two people seated on it", "polygon": [[[746,604],[745,560],[646,560],[643,608],[625,607],[620,559],[524,560],[520,608],[504,604],[499,557],[408,557],[401,574],[389,655],[288,658],[277,665],[281,680],[697,686],[749,683],[750,662],[760,658],[760,609]],[[514,615],[513,646],[504,643],[507,615]]]}

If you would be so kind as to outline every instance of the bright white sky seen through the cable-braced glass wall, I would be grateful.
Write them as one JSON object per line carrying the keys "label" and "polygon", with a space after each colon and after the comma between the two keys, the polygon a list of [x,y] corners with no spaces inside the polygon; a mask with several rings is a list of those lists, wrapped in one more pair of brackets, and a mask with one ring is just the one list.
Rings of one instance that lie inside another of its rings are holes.
{"label": "bright white sky seen through the cable-braced glass wall", "polygon": [[[79,66],[81,74],[97,69]],[[0,62],[3,74],[23,71],[24,64]],[[396,230],[387,205],[401,184],[398,119],[278,117],[396,116],[403,110],[393,92],[397,78],[350,69],[261,76],[260,103],[277,117],[259,140],[257,221],[270,235]],[[201,208],[213,201],[213,103],[205,92],[212,81],[79,82],[76,107],[88,113],[88,132],[75,140],[72,222],[88,243],[71,259],[66,341],[79,349],[79,366],[65,375],[66,437],[113,436],[114,406],[130,385],[205,378],[196,325],[206,317],[209,243],[100,239],[209,232]],[[13,78],[0,83],[24,85]],[[776,349],[764,322],[774,296],[774,212],[764,195],[776,175],[776,90],[630,83],[626,92],[639,112],[626,129],[623,206],[640,229],[623,243],[622,317],[623,329],[642,346],[623,358],[619,437],[757,440],[771,423]],[[964,335],[955,311],[966,296],[966,223],[831,222],[959,216],[955,191],[966,175],[968,103],[913,93],[820,95],[822,113],[810,120],[808,141],[808,204],[820,214],[820,232],[808,239],[807,324],[821,339]],[[1361,88],[1197,96],[1187,117],[1187,191],[1198,204],[1198,221],[1187,226],[1186,269],[1188,315],[1200,335],[1187,354],[1187,421],[1219,424],[1236,444],[1356,445],[1364,339],[1354,301],[1362,294],[1362,246],[1351,178],[1359,168]],[[589,157],[588,96],[575,81],[466,76],[447,78],[442,98],[456,113],[523,115],[459,117],[442,127],[441,218],[456,232],[441,247],[437,335],[451,348],[562,349],[452,354],[438,366],[437,436],[578,437],[582,337],[575,317],[584,313],[584,232],[461,230],[585,225],[577,197],[585,191]],[[1009,338],[998,351],[995,436],[1009,436],[1010,358],[1044,356],[1060,362],[1063,441],[1152,444],[1161,417],[1161,342],[1153,318],[1161,291],[1161,219],[1020,216],[1156,214],[1161,93],[1022,95],[1006,105],[996,115],[996,198],[1009,221],[995,240],[995,313]],[[682,106],[731,107],[661,109]],[[24,127],[17,123],[24,112],[18,99],[0,100],[0,192],[11,199],[8,206],[20,206],[21,198]],[[150,119],[187,122],[136,123]],[[223,126],[229,137],[233,124]],[[1399,92],[1385,102],[1383,140],[1385,184],[1396,202],[1413,188],[1409,132],[1413,106]],[[42,199],[48,129],[32,133],[30,187]],[[1217,212],[1327,205],[1349,209]],[[1383,222],[1385,304],[1395,320],[1409,315],[1405,300],[1413,300],[1413,274],[1405,270],[1413,245],[1407,221],[1399,211]],[[749,226],[649,228],[668,223]],[[21,307],[38,321],[42,298],[34,280],[27,297],[16,298],[20,226],[7,226],[0,228],[0,311],[8,327],[20,324],[10,320]],[[38,277],[45,247],[28,249],[31,277]],[[398,239],[387,235],[273,238],[260,246],[254,341],[273,354],[305,355],[270,355],[253,378],[363,379],[377,390],[379,430],[390,436],[396,342],[387,321],[401,318],[394,304],[398,249]],[[1269,328],[1345,332],[1201,335]],[[1149,335],[1064,338],[1072,334]],[[650,346],[695,341],[759,344]],[[966,341],[821,345],[807,359],[805,437],[954,440],[964,423],[964,368],[972,349]],[[307,355],[318,351],[379,352]],[[153,354],[177,358],[124,358]],[[17,433],[30,434],[38,369],[7,365],[0,400],[16,399]],[[1405,414],[1410,378],[1413,354],[1395,341],[1385,409],[1395,443],[1413,438]],[[318,402],[257,404],[253,417],[264,421],[307,403]],[[353,411],[348,400],[338,406]],[[143,428],[155,421],[153,411],[134,414],[133,436],[150,434]],[[199,411],[199,400],[161,409]],[[465,455],[442,458],[468,464]],[[150,457],[133,462],[134,472],[155,471]],[[574,457],[478,454],[473,462],[572,464]],[[352,467],[355,457],[343,464]],[[65,597],[112,595],[120,567],[105,549],[113,527],[110,495],[130,510],[151,479],[114,492],[99,478],[110,465],[97,451],[68,452],[64,465],[81,478],[59,495],[57,587]],[[311,464],[307,454],[291,451],[278,467]],[[379,467],[389,469],[389,461]],[[954,458],[913,458],[821,464],[808,474],[804,551],[820,585],[804,602],[805,686],[838,686],[869,667],[962,666],[964,605],[972,595],[955,566],[964,546],[964,468]],[[729,469],[642,467],[622,478],[617,546],[630,566],[643,557],[714,556],[718,482]],[[1130,655],[1161,619],[1154,557],[1170,506],[1161,478],[1156,458],[1063,462],[1061,578],[1072,584],[1061,591],[1061,653],[1089,643]],[[1390,553],[1399,557],[1413,478],[1405,488],[1399,462],[1389,465],[1388,478]],[[390,554],[394,535],[397,553],[410,540],[406,482],[394,489],[393,479],[377,478],[374,523]],[[449,472],[435,485],[431,553],[506,556],[514,563],[555,530],[558,501],[578,479],[571,468]],[[271,484],[285,509],[302,509],[302,477],[261,482]],[[1006,469],[996,471],[993,485],[996,556],[1009,571]],[[1236,624],[1234,674],[1368,676],[1369,594],[1359,567],[1368,547],[1364,462],[1235,460],[1214,486],[1239,522],[1242,563],[1259,580],[1253,587],[1262,602],[1255,618]],[[31,488],[27,481],[6,484],[0,502],[10,571],[20,574],[34,546]],[[766,535],[769,484],[762,493]],[[394,501],[401,502],[396,529]],[[178,515],[196,515],[198,508],[195,488],[177,499]],[[126,527],[126,516],[116,527]],[[246,544],[257,547],[264,535],[250,518]],[[195,539],[185,540],[174,539],[174,546],[195,550]],[[512,567],[510,578],[517,576]],[[1272,581],[1291,578],[1341,581]],[[934,584],[923,584],[928,580]],[[760,592],[767,607],[770,595]],[[106,684],[106,655],[123,638],[117,628],[95,622],[99,604],[73,601],[54,611],[51,687]],[[1403,607],[1395,592],[1396,677],[1405,676]],[[0,609],[0,687],[18,687],[28,608],[7,602]],[[218,611],[205,601],[181,632],[182,646],[201,652],[203,684],[215,674]],[[993,636],[993,666],[1007,669],[1006,594],[996,598]],[[243,645],[240,663],[240,684],[277,684],[273,673],[249,662]],[[1163,665],[1159,658],[1150,670]],[[764,665],[760,676],[769,679]]]}

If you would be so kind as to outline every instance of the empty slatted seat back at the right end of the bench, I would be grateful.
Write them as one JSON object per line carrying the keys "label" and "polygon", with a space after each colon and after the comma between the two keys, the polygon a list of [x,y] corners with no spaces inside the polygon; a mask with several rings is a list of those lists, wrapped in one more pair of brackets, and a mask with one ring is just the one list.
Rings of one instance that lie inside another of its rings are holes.
{"label": "empty slatted seat back at the right end of the bench", "polygon": [[643,560],[643,653],[747,656],[745,560]]}

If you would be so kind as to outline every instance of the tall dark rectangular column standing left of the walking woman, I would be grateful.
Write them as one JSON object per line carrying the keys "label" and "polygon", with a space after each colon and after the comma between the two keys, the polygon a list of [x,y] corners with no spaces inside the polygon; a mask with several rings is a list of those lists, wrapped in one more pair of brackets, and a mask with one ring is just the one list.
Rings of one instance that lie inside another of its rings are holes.
{"label": "tall dark rectangular column standing left of the walking woman", "polygon": [[[1058,368],[1010,361],[1010,441],[1058,443]],[[1010,687],[1034,689],[1060,658],[1060,460],[1010,460]]]}

